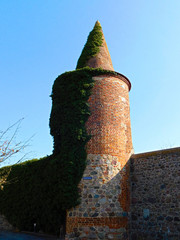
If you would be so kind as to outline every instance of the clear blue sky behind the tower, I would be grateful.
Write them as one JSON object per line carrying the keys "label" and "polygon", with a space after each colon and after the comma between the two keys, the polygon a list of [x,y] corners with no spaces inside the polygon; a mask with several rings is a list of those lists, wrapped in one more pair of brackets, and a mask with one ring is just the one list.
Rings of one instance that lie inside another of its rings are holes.
{"label": "clear blue sky behind the tower", "polygon": [[1,0],[0,129],[25,117],[30,158],[52,152],[55,78],[73,70],[99,20],[115,71],[131,83],[136,153],[180,146],[179,0]]}

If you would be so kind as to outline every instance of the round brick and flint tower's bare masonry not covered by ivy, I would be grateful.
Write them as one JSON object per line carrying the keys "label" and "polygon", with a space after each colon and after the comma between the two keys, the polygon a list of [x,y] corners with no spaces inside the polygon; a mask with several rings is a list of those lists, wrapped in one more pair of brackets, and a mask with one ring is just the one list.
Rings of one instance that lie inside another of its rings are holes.
{"label": "round brick and flint tower's bare masonry not covered by ivy", "polygon": [[[96,22],[95,27],[101,25]],[[87,45],[91,46],[91,33]],[[83,50],[84,51],[84,50]],[[82,51],[82,54],[83,54]],[[79,184],[81,204],[67,212],[67,239],[127,239],[129,218],[129,164],[132,152],[129,90],[130,81],[114,72],[102,33],[96,54],[83,66],[110,70],[93,77],[94,88],[86,124],[87,167]]]}

